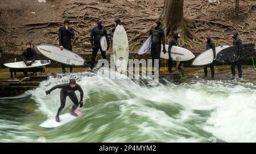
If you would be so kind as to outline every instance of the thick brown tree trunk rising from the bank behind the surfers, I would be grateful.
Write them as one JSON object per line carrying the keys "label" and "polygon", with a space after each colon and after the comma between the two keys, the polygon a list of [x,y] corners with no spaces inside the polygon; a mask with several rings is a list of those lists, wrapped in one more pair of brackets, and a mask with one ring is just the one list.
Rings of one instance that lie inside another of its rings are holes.
{"label": "thick brown tree trunk rising from the bank behind the surfers", "polygon": [[163,28],[166,35],[174,32],[180,27],[183,19],[183,1],[184,0],[164,0],[163,12],[160,19],[163,22]]}

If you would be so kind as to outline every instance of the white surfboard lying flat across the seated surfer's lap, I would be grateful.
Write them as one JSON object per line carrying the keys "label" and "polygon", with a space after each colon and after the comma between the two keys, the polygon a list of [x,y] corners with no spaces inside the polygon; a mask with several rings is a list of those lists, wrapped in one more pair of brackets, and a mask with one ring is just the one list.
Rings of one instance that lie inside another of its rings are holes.
{"label": "white surfboard lying flat across the seated surfer's lap", "polygon": [[[31,61],[27,61],[28,63],[30,63]],[[35,62],[31,65],[31,66],[26,66],[26,64],[24,63],[24,61],[19,61],[19,62],[15,62],[15,63],[6,63],[3,64],[9,68],[36,68],[36,67],[40,67],[40,66],[45,66],[51,64],[51,61],[49,60],[35,60]]]}

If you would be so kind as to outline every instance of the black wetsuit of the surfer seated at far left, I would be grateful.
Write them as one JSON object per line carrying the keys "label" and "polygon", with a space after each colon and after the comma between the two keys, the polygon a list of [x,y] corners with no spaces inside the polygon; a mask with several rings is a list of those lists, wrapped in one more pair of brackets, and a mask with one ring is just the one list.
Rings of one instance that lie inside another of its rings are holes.
{"label": "black wetsuit of the surfer seated at far left", "polygon": [[[36,51],[32,48],[24,49],[22,52],[22,60],[25,64],[27,64],[28,60],[31,60],[32,63],[36,60]],[[32,70],[33,73],[36,73],[36,68]],[[23,71],[24,75],[27,77],[27,69],[24,69]]]}

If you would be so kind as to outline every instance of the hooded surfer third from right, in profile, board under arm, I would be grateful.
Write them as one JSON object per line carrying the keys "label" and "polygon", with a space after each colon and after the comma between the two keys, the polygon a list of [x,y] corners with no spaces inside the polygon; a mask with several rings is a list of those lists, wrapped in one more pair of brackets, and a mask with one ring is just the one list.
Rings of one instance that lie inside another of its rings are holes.
{"label": "hooded surfer third from right, in profile, board under arm", "polygon": [[[170,40],[170,42],[169,42],[169,46],[168,46],[168,55],[169,55],[169,59],[168,59],[168,71],[169,71],[170,73],[172,73],[172,65],[173,65],[173,62],[172,62],[173,59],[172,59],[172,57],[171,57],[171,48],[172,48],[173,45],[174,45],[174,46],[177,46],[177,39],[179,39],[180,36],[181,36],[180,31],[175,31],[173,37],[171,38],[171,40]],[[180,61],[179,66],[178,66],[177,68],[178,68],[178,70],[181,70],[181,71],[184,72],[184,70],[181,69],[181,65],[182,65],[182,64],[183,64],[183,62]]]}

